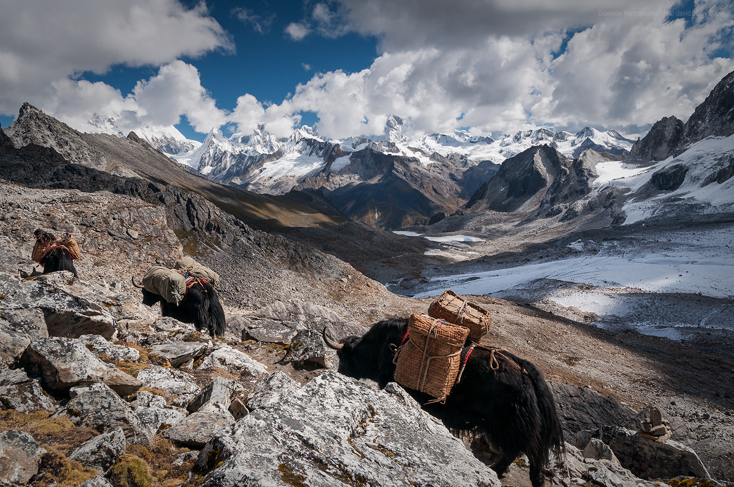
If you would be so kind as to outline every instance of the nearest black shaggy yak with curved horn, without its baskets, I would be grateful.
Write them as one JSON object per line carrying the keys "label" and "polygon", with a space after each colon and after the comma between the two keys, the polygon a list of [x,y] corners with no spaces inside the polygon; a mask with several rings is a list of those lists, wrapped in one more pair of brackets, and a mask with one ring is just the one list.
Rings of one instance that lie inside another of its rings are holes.
{"label": "nearest black shaggy yak with curved horn, without its baskets", "polygon": [[[406,317],[388,318],[375,323],[363,336],[345,337],[338,343],[327,337],[324,328],[324,342],[337,351],[340,373],[369,378],[383,388],[393,381],[393,356],[407,326]],[[462,350],[462,360],[467,351]],[[424,392],[406,390],[449,430],[484,436],[499,450],[500,458],[490,466],[499,477],[525,453],[531,483],[541,487],[545,481],[542,467],[550,453],[560,458],[564,452],[562,425],[545,378],[531,362],[508,351],[493,354],[490,348],[473,348],[445,403],[435,402]]]}

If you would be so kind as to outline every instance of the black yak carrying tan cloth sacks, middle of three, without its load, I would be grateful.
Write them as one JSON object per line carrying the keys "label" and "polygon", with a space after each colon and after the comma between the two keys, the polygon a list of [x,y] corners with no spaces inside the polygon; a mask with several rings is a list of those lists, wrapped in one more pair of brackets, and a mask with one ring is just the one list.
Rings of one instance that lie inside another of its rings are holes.
{"label": "black yak carrying tan cloth sacks, middle of three, without its load", "polygon": [[161,315],[170,316],[184,323],[194,323],[197,331],[206,329],[212,337],[221,337],[225,334],[227,329],[225,310],[219,302],[217,291],[203,279],[197,279],[192,283],[179,304],[169,303],[160,294],[150,292],[145,286],[137,284],[134,277],[132,282],[142,291],[143,304],[153,306],[160,301]]}

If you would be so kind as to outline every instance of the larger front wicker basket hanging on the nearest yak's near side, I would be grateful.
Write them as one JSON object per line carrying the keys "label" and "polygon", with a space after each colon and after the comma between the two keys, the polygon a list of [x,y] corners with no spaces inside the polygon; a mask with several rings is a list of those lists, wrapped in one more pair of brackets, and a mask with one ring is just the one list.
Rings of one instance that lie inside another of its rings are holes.
{"label": "larger front wicker basket hanging on the nearest yak's near side", "polygon": [[459,354],[469,329],[414,313],[408,330],[409,340],[399,350],[395,381],[443,400],[459,374]]}

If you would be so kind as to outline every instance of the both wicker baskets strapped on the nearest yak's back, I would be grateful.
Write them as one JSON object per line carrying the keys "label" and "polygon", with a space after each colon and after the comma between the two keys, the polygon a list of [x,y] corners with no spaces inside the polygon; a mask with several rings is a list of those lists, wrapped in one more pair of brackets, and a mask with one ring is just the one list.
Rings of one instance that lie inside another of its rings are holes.
{"label": "both wicker baskets strapped on the nearest yak's back", "polygon": [[486,310],[446,290],[429,315],[410,316],[407,343],[397,351],[396,382],[444,400],[459,375],[467,338],[479,343],[490,323]]}

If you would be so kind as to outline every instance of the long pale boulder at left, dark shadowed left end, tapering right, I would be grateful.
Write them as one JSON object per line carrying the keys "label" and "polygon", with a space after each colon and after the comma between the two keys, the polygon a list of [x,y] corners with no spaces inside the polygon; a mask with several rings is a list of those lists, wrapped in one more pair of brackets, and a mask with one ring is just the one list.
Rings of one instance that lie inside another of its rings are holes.
{"label": "long pale boulder at left, dark shadowed left end, tapering right", "polygon": [[78,338],[34,340],[21,363],[32,375],[41,376],[44,386],[50,389],[65,391],[77,385],[101,382],[124,396],[142,386],[137,378],[102,362]]}

